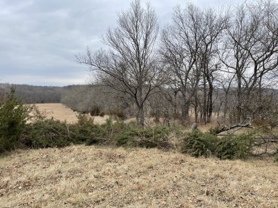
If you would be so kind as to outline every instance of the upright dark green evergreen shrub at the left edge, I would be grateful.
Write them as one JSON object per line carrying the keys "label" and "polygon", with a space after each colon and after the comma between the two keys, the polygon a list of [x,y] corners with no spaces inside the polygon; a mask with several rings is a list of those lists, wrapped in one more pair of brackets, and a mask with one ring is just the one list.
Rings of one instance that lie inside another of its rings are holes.
{"label": "upright dark green evergreen shrub at the left edge", "polygon": [[0,153],[17,146],[30,112],[31,107],[15,98],[15,88],[0,101]]}

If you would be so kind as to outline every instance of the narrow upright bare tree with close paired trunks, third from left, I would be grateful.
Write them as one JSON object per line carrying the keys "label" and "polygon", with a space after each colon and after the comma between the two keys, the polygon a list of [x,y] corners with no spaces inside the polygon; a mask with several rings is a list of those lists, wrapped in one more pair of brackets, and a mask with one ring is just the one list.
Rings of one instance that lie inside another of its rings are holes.
{"label": "narrow upright bare tree with close paired trunks, third from left", "polygon": [[215,12],[215,10],[211,8],[207,8],[202,12],[202,44],[199,50],[199,61],[203,75],[202,83],[204,97],[202,116],[204,123],[211,121],[213,112],[213,81],[215,80],[215,72],[220,69],[218,44],[228,21],[228,15],[221,15],[221,13],[223,12]]}

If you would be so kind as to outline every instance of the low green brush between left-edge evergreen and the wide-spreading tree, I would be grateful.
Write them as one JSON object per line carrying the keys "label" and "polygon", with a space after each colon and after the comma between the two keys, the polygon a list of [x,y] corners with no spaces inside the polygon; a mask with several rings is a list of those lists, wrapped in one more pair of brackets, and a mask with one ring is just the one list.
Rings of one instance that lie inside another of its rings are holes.
{"label": "low green brush between left-edge evergreen and the wide-spreading tree", "polygon": [[111,119],[97,125],[88,116],[80,114],[78,122],[68,124],[60,121],[38,120],[28,125],[22,136],[22,144],[31,148],[64,147],[71,144],[107,144],[115,134],[124,131],[125,124]]}

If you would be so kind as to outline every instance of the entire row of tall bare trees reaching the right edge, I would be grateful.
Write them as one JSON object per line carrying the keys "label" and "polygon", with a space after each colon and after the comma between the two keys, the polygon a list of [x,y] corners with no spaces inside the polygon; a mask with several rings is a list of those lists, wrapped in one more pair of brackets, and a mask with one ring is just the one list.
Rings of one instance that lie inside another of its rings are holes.
{"label": "entire row of tall bare trees reaching the right edge", "polygon": [[108,49],[88,49],[76,60],[93,71],[95,83],[133,102],[140,125],[149,105],[184,120],[193,109],[204,123],[220,110],[234,123],[265,119],[276,113],[270,89],[277,84],[277,17],[276,1],[222,10],[188,4],[174,8],[160,29],[154,8],[135,0],[103,36]]}

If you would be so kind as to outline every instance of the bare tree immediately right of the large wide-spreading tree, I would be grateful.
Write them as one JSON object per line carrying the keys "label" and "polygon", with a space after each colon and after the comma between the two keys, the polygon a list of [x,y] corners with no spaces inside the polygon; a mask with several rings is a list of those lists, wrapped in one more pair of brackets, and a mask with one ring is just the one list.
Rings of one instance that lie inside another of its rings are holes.
{"label": "bare tree immediately right of the large wide-spreading tree", "polygon": [[[179,86],[183,97],[181,112],[183,119],[188,119],[190,102],[199,83],[197,58],[201,44],[200,26],[202,15],[200,10],[188,5],[185,10],[174,9],[172,24],[163,30],[160,53],[162,60],[168,65],[168,74],[173,82]],[[190,77],[194,89],[190,87]]]}

